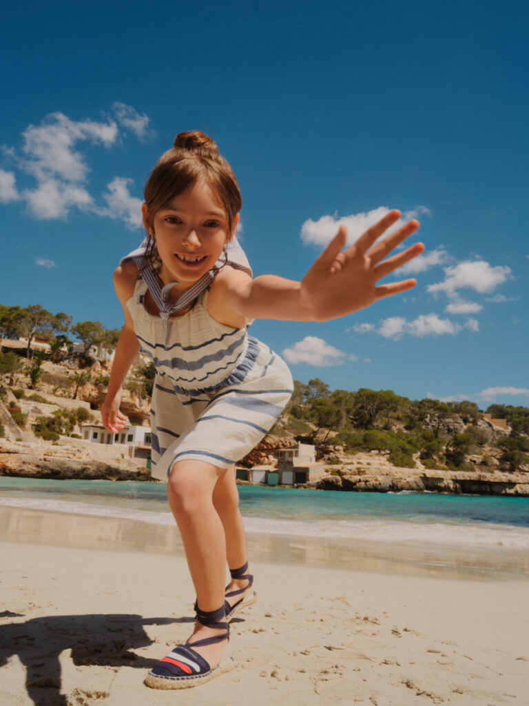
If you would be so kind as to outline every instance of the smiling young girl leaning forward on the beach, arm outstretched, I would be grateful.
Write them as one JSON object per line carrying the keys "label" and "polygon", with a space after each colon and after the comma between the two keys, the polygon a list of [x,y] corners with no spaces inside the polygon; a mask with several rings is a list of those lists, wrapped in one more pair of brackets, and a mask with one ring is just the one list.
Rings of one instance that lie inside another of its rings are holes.
{"label": "smiling young girl leaning forward on the beach, arm outstretched", "polygon": [[145,186],[147,238],[114,273],[125,325],[103,424],[114,433],[125,426],[121,385],[141,346],[156,368],[152,475],[167,481],[197,595],[193,635],[147,675],[154,688],[195,686],[229,669],[227,621],[256,600],[234,463],[272,427],[293,385],[284,362],[248,335],[248,323],[328,321],[404,292],[415,280],[377,281],[424,249],[415,244],[384,260],[419,227],[410,221],[375,244],[399,219],[394,210],[344,251],[341,226],[301,282],[253,280],[235,238],[240,210],[236,177],[214,141],[181,133]]}

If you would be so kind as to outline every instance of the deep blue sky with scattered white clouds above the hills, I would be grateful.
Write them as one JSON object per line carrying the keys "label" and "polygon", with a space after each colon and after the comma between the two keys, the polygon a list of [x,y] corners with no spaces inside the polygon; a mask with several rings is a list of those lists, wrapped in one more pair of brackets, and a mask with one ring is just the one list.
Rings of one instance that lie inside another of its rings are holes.
{"label": "deep blue sky with scattered white clouds above the hills", "polygon": [[415,289],[252,325],[294,378],[529,406],[526,3],[9,1],[2,25],[1,304],[121,327],[142,186],[197,129],[255,275],[300,280],[341,222],[421,222]]}

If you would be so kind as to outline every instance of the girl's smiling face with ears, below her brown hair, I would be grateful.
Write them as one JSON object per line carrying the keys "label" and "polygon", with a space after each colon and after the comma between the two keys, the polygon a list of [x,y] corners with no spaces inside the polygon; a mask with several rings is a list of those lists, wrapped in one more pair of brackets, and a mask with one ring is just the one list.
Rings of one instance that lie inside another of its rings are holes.
{"label": "girl's smiling face with ears, below her brown hair", "polygon": [[[200,280],[219,259],[222,248],[231,239],[228,217],[207,184],[197,182],[176,196],[154,214],[153,227],[145,227],[153,235],[162,268],[159,276],[165,285],[178,282],[188,287]],[[233,228],[238,221],[236,217]]]}

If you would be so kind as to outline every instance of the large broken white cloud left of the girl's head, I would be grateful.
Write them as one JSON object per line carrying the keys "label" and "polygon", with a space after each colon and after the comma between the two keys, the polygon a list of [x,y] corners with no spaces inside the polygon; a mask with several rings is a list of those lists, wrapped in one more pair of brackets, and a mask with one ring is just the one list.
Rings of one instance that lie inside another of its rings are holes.
{"label": "large broken white cloud left of the girl's head", "polygon": [[[114,177],[109,191],[102,195],[106,206],[97,205],[88,191],[89,145],[110,148],[118,142],[120,129],[138,138],[147,136],[149,118],[133,107],[114,103],[116,120],[75,121],[61,112],[48,115],[41,124],[30,125],[23,133],[20,154],[5,146],[4,155],[16,162],[20,172],[35,179],[25,189],[16,188],[16,174],[0,169],[0,203],[25,201],[29,213],[41,220],[66,219],[73,208],[125,222],[127,227],[141,224],[142,201],[129,193],[130,179]],[[121,126],[121,128],[120,128]]]}

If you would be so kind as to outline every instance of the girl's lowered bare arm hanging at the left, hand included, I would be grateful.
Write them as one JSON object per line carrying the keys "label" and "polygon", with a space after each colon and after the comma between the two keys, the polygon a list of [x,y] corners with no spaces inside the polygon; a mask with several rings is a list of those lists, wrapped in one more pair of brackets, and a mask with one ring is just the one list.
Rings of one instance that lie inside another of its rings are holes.
{"label": "girl's lowered bare arm hanging at the left, hand included", "polygon": [[125,325],[121,330],[116,352],[114,353],[107,397],[105,397],[101,410],[104,426],[110,431],[114,431],[114,433],[119,429],[123,429],[127,421],[125,415],[119,411],[121,385],[123,385],[128,370],[140,349],[140,342],[134,333],[132,316],[130,316],[130,311],[128,311],[126,306],[128,299],[132,297],[134,292],[137,277],[138,268],[133,263],[118,267],[114,273],[114,287],[119,301],[123,304]]}

